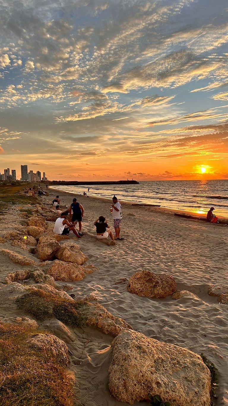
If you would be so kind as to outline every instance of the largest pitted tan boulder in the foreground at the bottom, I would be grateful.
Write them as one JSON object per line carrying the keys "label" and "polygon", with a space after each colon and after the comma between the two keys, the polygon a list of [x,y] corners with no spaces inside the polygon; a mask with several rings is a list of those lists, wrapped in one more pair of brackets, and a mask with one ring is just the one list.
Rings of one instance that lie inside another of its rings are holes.
{"label": "largest pitted tan boulder in the foreground at the bottom", "polygon": [[210,406],[211,375],[199,355],[130,330],[112,347],[109,390],[120,402],[148,400],[150,393],[172,406]]}

